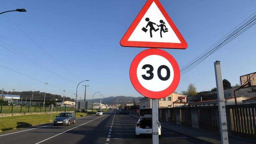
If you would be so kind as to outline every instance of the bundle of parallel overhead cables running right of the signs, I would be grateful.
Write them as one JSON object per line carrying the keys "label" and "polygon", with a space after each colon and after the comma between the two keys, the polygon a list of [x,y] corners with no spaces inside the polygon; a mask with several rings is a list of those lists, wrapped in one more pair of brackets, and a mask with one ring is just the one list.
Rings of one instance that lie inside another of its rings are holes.
{"label": "bundle of parallel overhead cables running right of the signs", "polygon": [[[256,12],[255,12],[256,13]],[[202,61],[204,61],[208,56],[213,54],[215,51],[226,45],[228,42],[236,38],[237,36],[241,35],[243,32],[248,30],[250,27],[256,24],[256,15],[250,15],[247,19],[245,19],[243,22],[241,22],[238,26],[236,26],[232,31],[227,33],[223,38],[218,40],[215,44],[213,44],[211,47],[206,49],[202,54],[191,60],[189,63],[184,65],[181,68],[181,75],[189,72],[194,67],[199,65]],[[251,17],[251,18],[250,18]],[[246,22],[245,22],[246,21]],[[245,23],[244,23],[245,22]]]}

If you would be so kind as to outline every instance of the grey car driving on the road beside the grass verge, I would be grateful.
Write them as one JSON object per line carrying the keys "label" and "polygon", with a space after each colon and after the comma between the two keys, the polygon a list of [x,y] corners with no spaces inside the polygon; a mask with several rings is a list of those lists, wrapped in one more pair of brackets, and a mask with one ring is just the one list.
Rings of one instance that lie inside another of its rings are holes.
{"label": "grey car driving on the road beside the grass verge", "polygon": [[53,121],[53,125],[70,125],[75,124],[76,119],[74,113],[60,113]]}

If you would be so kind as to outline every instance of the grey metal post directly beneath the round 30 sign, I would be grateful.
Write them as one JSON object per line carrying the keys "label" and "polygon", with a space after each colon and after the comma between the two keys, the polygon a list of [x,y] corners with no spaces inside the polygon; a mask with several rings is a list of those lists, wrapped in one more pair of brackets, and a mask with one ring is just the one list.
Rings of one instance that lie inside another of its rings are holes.
{"label": "grey metal post directly beneath the round 30 sign", "polygon": [[158,127],[158,99],[152,99],[152,144],[159,143]]}

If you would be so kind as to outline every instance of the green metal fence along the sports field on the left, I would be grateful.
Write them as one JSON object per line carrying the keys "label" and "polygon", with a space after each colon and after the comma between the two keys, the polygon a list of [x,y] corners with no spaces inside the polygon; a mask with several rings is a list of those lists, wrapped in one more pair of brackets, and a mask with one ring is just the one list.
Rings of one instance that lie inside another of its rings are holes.
{"label": "green metal fence along the sports field on the left", "polygon": [[[74,111],[73,106],[54,106],[52,111]],[[28,104],[8,104],[0,103],[0,113],[29,113],[29,112],[48,112],[49,106],[28,105]]]}

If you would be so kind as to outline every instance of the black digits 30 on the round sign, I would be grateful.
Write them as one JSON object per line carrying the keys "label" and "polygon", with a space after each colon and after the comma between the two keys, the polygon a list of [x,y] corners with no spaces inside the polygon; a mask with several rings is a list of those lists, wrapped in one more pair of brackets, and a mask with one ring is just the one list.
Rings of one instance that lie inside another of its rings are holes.
{"label": "black digits 30 on the round sign", "polygon": [[[146,65],[143,65],[142,69],[145,70],[147,67],[149,67],[149,70],[147,70],[147,74],[150,74],[150,75],[148,77],[145,74],[143,74],[141,76],[145,80],[151,80],[154,77],[154,73],[153,73],[154,67],[150,64],[146,64]],[[166,77],[162,77],[162,75],[161,75],[161,70],[162,69],[166,70]],[[162,81],[167,81],[170,78],[170,69],[169,69],[169,67],[167,67],[166,65],[159,66],[158,69],[157,69],[157,76]]]}

